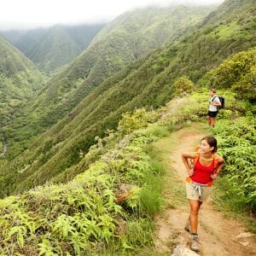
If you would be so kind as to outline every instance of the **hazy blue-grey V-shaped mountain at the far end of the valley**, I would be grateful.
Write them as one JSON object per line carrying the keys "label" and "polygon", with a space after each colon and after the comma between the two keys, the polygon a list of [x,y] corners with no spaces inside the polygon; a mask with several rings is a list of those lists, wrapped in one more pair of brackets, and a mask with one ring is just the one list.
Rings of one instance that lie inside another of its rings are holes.
{"label": "hazy blue-grey V-shaped mountain at the far end of the valley", "polygon": [[53,26],[0,34],[22,51],[39,69],[53,73],[69,64],[90,44],[104,24]]}

